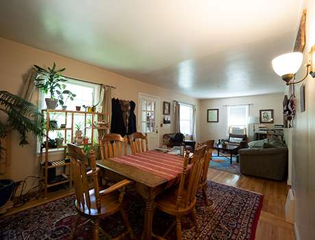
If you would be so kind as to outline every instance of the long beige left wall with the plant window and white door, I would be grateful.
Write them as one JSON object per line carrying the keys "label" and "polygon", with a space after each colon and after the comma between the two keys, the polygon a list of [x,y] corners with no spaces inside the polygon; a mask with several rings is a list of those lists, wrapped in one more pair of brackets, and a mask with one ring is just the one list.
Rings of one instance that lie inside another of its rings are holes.
{"label": "long beige left wall with the plant window and white door", "polygon": [[[115,86],[116,89],[113,89],[112,97],[135,101],[136,113],[138,112],[139,92],[160,97],[160,123],[163,123],[163,101],[169,101],[172,103],[171,112],[173,112],[173,100],[194,104],[197,106],[197,115],[199,115],[199,100],[194,99],[194,97],[188,97],[173,91],[168,91],[164,88],[131,80],[127,77],[123,77],[82,62],[77,62],[52,53],[40,51],[32,47],[27,47],[26,45],[5,40],[4,38],[0,38],[0,52],[0,84],[2,91],[9,91],[10,93],[18,94],[23,85],[23,75],[27,73],[29,68],[33,67],[34,64],[47,68],[51,67],[53,62],[55,62],[57,68],[66,68],[64,75]],[[37,105],[37,95],[34,95],[32,102]],[[3,115],[1,116],[1,114],[2,112],[0,113],[0,117],[3,119]],[[173,121],[173,115],[171,115],[171,121]],[[173,132],[172,124],[166,124],[160,128],[160,136],[170,132]],[[197,123],[197,138],[199,138],[198,134],[199,124]],[[39,159],[36,158],[36,141],[31,135],[29,135],[30,145],[21,147],[18,143],[19,136],[15,133],[12,136],[12,179],[14,181],[19,181],[24,180],[27,176],[38,176]],[[160,143],[162,143],[162,137],[160,137]],[[58,158],[58,156],[52,156],[52,158]]]}

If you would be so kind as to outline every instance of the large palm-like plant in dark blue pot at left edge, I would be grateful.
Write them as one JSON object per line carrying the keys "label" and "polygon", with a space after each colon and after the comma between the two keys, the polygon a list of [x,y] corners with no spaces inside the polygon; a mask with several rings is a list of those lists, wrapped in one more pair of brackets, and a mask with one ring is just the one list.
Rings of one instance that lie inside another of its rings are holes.
{"label": "large palm-like plant in dark blue pot at left edge", "polygon": [[[44,116],[38,111],[34,104],[13,95],[8,91],[0,91],[0,110],[8,115],[6,121],[0,119],[0,160],[5,148],[1,146],[1,140],[5,138],[8,131],[16,130],[21,136],[20,145],[29,144],[27,133],[31,132],[36,139],[42,139]],[[6,204],[12,193],[13,180],[0,180],[0,208]]]}

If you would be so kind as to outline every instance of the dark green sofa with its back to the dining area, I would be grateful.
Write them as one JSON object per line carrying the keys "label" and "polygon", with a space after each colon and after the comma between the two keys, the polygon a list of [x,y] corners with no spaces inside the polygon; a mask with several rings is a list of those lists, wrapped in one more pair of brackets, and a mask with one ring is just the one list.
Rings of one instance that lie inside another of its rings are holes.
{"label": "dark green sofa with its back to the dining area", "polygon": [[240,173],[273,180],[283,180],[288,163],[286,143],[271,136],[270,139],[252,141],[249,148],[239,149]]}

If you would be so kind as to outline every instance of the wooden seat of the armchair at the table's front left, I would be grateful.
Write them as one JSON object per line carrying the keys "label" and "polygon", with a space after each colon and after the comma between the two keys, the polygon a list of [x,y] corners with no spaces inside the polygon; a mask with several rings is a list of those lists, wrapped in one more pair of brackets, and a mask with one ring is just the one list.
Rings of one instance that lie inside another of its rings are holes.
{"label": "wooden seat of the armchair at the table's front left", "polygon": [[[95,193],[94,189],[91,189],[90,191],[90,198],[95,199]],[[120,204],[118,202],[118,197],[121,192],[116,190],[112,193],[103,195],[100,197],[101,202],[101,211],[97,211],[97,204],[95,201],[91,202],[91,208],[90,211],[88,210],[88,207],[82,207],[79,206],[77,203],[77,200],[75,200],[75,207],[77,208],[77,211],[84,217],[93,219],[93,217],[96,217],[99,219],[99,217],[108,217],[112,215],[113,213],[116,213],[120,208],[126,206],[129,203],[129,197],[125,195],[123,202]],[[103,213],[103,214],[102,214]]]}

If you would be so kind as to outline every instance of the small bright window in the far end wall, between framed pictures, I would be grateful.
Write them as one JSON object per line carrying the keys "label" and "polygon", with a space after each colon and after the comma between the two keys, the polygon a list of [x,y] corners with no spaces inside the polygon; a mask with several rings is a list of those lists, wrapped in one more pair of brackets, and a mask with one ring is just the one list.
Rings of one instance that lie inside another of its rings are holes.
{"label": "small bright window in the far end wall, between framed pictures", "polygon": [[[248,119],[248,105],[227,106],[227,135],[229,135],[230,128],[248,129]],[[246,130],[246,132],[248,131]]]}

